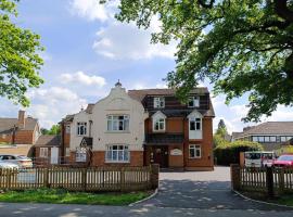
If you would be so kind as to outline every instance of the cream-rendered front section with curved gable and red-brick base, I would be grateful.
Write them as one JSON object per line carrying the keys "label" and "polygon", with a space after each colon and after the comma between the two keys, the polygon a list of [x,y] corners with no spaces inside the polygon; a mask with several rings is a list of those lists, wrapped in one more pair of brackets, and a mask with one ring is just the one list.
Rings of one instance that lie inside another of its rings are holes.
{"label": "cream-rendered front section with curved gable and red-brick base", "polygon": [[146,117],[141,102],[130,98],[117,82],[106,98],[67,122],[71,162],[142,166]]}

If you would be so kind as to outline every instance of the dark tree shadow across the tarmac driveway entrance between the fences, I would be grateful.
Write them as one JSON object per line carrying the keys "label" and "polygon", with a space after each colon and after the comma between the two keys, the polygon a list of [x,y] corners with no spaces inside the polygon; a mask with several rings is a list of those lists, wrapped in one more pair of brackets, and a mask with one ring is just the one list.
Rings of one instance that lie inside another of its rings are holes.
{"label": "dark tree shadow across the tarmac driveway entrance between the fences", "polygon": [[161,180],[158,193],[140,205],[200,209],[293,210],[244,200],[230,190],[229,181],[187,179]]}

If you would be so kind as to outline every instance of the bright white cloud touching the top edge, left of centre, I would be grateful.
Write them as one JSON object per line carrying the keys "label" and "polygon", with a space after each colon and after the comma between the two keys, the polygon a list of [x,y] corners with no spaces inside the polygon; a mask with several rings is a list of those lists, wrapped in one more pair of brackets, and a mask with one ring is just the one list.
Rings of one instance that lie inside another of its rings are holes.
{"label": "bright white cloud touching the top edge, left of centre", "polygon": [[71,11],[88,21],[104,22],[110,18],[109,11],[104,4],[99,3],[99,0],[73,0],[71,1]]}

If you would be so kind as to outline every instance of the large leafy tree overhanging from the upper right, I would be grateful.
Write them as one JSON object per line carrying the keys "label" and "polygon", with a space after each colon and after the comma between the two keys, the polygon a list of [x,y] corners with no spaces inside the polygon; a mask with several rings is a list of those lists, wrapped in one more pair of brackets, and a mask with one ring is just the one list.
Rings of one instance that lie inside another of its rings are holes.
{"label": "large leafy tree overhanging from the upper right", "polygon": [[154,16],[162,31],[152,42],[179,42],[166,80],[181,100],[208,80],[226,103],[249,93],[246,122],[293,105],[292,0],[122,0],[116,14],[144,28]]}

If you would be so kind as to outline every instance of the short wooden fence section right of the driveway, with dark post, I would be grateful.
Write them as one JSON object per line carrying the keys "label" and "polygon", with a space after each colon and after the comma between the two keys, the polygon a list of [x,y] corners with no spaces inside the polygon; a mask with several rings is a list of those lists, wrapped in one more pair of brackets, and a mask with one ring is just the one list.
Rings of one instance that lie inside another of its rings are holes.
{"label": "short wooden fence section right of the driveway, with dark post", "polygon": [[269,195],[293,193],[293,168],[231,165],[231,183],[233,190],[264,192]]}

